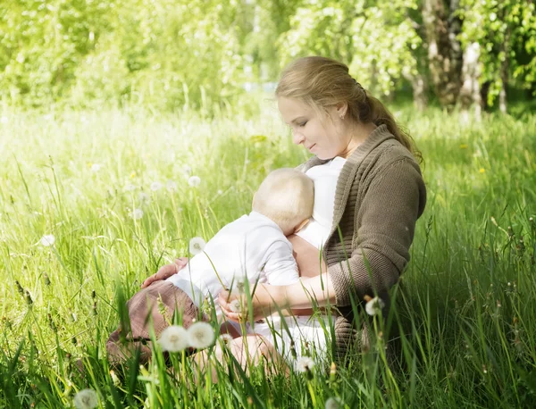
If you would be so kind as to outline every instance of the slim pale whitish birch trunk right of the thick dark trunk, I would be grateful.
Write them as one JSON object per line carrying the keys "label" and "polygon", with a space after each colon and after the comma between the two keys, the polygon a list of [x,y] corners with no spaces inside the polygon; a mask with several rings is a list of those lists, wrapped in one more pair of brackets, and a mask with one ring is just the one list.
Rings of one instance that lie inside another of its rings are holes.
{"label": "slim pale whitish birch trunk right of the thick dark trunk", "polygon": [[474,116],[478,121],[482,117],[481,89],[478,80],[481,75],[479,58],[480,45],[476,42],[468,44],[464,51],[462,87],[458,97],[458,104],[462,112],[468,113],[470,108],[473,107]]}

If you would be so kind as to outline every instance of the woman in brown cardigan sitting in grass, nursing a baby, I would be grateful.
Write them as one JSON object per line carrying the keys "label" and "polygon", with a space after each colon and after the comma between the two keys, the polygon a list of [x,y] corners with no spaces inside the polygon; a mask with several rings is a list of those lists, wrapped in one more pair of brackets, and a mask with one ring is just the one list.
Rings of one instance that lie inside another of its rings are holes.
{"label": "woman in brown cardigan sitting in grass, nursing a baby", "polygon": [[[388,290],[409,261],[415,221],[426,203],[415,160],[420,154],[343,63],[298,59],[282,72],[276,96],[293,142],[314,154],[301,165],[316,178],[314,220],[290,238],[302,280],[282,287],[258,285],[252,313],[257,320],[276,312],[274,305],[310,309],[312,299],[320,306],[334,305],[335,350],[344,355],[356,337],[352,300],[363,305],[369,296],[380,296],[389,308]],[[319,268],[320,248],[327,271]],[[232,307],[235,298],[222,292],[219,303],[229,320],[240,321],[245,317]],[[316,335],[309,332],[305,338]],[[233,340],[240,361],[273,352],[263,336],[248,336],[252,341],[258,349],[244,348],[244,338]]]}

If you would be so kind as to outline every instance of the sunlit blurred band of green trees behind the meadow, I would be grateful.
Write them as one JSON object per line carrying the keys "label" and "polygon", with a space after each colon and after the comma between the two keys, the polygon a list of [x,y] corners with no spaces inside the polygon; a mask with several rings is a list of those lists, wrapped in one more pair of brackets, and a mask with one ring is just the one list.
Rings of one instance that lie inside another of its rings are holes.
{"label": "sunlit blurred band of green trees behind the meadow", "polygon": [[536,92],[533,0],[2,0],[7,104],[196,109],[272,89],[292,59],[348,63],[375,95],[507,112]]}

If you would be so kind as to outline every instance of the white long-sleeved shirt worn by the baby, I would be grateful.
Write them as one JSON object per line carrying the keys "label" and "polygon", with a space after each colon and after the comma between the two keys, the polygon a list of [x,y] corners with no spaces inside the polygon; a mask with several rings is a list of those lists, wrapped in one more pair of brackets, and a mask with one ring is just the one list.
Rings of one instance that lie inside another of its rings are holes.
{"label": "white long-sleeved shirt worn by the baby", "polygon": [[233,288],[237,288],[237,280],[276,286],[299,280],[292,245],[281,228],[261,213],[251,212],[231,221],[206,243],[204,251],[167,279],[197,306],[205,297],[215,301],[222,290],[218,276],[228,288],[233,280]]}

